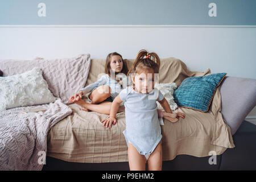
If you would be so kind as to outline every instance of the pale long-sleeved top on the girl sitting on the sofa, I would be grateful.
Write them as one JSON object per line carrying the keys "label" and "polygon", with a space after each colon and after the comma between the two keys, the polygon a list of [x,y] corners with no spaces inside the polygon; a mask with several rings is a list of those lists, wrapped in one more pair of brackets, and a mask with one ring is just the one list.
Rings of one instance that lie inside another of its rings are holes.
{"label": "pale long-sleeved top on the girl sitting on the sofa", "polygon": [[[121,90],[126,88],[126,86],[129,84],[129,81],[131,82],[131,79],[128,80],[128,77],[125,76],[123,73],[118,73],[116,77],[121,77],[123,84],[120,84],[121,82],[118,83],[116,80],[110,78],[108,74],[105,74],[105,75],[102,75],[101,78],[96,82],[94,82],[93,84],[89,84],[80,90],[84,92],[84,95],[85,95],[86,93],[92,92],[98,86],[108,85],[111,88],[110,101],[113,101],[114,98],[117,97],[118,94],[121,92]],[[88,96],[88,99],[90,101],[89,96]]]}

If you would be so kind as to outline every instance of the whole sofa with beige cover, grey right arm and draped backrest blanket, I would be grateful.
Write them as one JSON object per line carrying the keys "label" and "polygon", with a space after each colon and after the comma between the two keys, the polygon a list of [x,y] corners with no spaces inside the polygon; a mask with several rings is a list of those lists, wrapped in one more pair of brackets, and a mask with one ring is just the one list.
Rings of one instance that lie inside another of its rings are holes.
{"label": "whole sofa with beige cover, grey right arm and draped backrest blanket", "polygon": [[[65,103],[69,96],[104,73],[105,59],[92,59],[90,64],[88,60],[89,55],[49,61],[0,60],[0,70],[3,76],[9,76],[39,66],[51,92]],[[131,68],[134,60],[124,61]],[[161,59],[159,82],[175,82],[179,86],[187,77],[209,74],[210,69],[189,71],[183,61],[169,57]],[[207,113],[179,107],[175,112],[183,112],[185,119],[180,118],[176,123],[164,119],[163,169],[256,169],[256,145],[253,144],[256,127],[244,121],[256,104],[255,90],[254,79],[226,76],[216,89]],[[100,122],[108,115],[81,111],[76,104],[68,108],[72,114],[51,125],[47,133],[47,161],[43,169],[129,169],[122,134],[124,107],[120,107],[118,123],[112,129],[105,129]],[[216,165],[208,162],[210,151],[216,152]]]}

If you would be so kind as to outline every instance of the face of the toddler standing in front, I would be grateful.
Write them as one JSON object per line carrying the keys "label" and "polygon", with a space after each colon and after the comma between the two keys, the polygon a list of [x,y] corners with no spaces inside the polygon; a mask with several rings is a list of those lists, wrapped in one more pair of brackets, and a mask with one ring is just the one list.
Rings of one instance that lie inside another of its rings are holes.
{"label": "face of the toddler standing in front", "polygon": [[148,93],[154,89],[154,69],[146,69],[142,73],[136,73],[133,77],[135,91],[138,93]]}

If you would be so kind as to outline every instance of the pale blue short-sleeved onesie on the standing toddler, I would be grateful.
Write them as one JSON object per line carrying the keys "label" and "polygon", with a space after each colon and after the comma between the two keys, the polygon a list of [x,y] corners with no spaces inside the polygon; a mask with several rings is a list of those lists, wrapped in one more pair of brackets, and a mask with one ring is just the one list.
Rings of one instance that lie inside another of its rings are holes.
{"label": "pale blue short-sleeved onesie on the standing toddler", "polygon": [[156,101],[162,101],[163,94],[157,88],[144,94],[127,86],[119,97],[125,102],[126,130],[123,135],[127,146],[130,142],[139,154],[151,154],[162,139]]}

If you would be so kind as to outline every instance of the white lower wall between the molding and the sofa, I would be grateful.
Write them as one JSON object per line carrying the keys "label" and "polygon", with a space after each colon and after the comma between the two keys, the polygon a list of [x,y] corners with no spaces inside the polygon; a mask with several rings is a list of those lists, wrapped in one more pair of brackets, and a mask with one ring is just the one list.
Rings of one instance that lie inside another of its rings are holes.
{"label": "white lower wall between the molding and the sofa", "polygon": [[140,49],[176,57],[192,71],[256,79],[256,26],[0,26],[0,59],[55,59]]}

